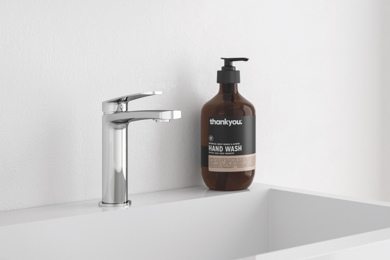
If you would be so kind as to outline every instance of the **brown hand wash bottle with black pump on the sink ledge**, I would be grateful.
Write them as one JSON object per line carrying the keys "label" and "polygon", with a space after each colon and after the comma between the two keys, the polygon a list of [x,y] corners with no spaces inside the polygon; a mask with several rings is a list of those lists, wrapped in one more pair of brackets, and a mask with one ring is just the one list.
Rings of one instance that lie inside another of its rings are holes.
{"label": "brown hand wash bottle with black pump on the sink ledge", "polygon": [[254,106],[238,92],[240,71],[233,62],[248,59],[222,59],[219,92],[202,108],[202,177],[212,190],[242,190],[255,175],[256,116]]}

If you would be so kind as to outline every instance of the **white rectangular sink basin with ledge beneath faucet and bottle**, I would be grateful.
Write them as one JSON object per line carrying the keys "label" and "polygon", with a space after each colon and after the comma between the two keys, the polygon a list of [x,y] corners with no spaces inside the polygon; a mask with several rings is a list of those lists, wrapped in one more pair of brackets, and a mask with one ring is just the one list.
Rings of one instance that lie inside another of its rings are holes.
{"label": "white rectangular sink basin with ledge beneath faucet and bottle", "polygon": [[367,245],[390,259],[390,203],[262,184],[131,200],[128,209],[108,211],[93,200],[1,212],[0,259],[325,260],[362,247],[378,252]]}

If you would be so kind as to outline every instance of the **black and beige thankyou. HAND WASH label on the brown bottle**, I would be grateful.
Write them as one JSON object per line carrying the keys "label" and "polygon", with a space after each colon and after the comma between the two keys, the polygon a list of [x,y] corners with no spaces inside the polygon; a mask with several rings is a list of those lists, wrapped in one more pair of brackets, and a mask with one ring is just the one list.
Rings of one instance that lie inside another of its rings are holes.
{"label": "black and beige thankyou. HAND WASH label on the brown bottle", "polygon": [[256,167],[256,116],[209,117],[208,151],[202,158],[212,172],[241,172]]}

